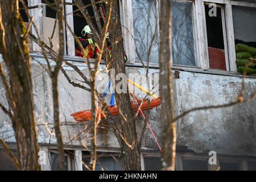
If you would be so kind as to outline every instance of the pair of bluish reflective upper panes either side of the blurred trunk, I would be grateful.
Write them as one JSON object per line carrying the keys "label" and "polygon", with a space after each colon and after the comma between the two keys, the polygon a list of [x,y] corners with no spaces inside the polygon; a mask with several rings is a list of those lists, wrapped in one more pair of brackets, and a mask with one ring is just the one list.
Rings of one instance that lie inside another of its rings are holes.
{"label": "pair of bluish reflective upper panes either side of the blurred trunk", "polygon": [[[158,1],[133,0],[136,61],[159,63]],[[195,67],[194,3],[174,1],[172,9],[173,64]],[[153,39],[154,38],[154,39]],[[152,44],[152,45],[151,45]]]}

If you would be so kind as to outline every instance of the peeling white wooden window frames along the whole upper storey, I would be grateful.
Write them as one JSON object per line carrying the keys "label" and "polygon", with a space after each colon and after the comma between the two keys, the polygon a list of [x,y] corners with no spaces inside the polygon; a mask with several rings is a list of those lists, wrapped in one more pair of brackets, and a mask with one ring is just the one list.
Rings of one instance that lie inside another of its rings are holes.
{"label": "peeling white wooden window frames along the whole upper storey", "polygon": [[[72,0],[64,0],[65,2],[73,2]],[[224,33],[224,44],[225,44],[225,56],[226,56],[226,73],[228,72],[237,72],[236,66],[236,51],[235,51],[235,43],[234,43],[234,26],[233,26],[233,14],[232,14],[232,6],[245,6],[245,7],[255,7],[256,2],[241,2],[241,1],[232,1],[232,0],[174,0],[177,2],[192,2],[193,3],[193,34],[195,40],[195,61],[196,66],[188,66],[188,65],[175,65],[174,68],[177,69],[195,69],[195,70],[207,70],[212,72],[220,72],[218,69],[209,68],[209,55],[208,55],[208,43],[207,43],[207,27],[205,20],[205,3],[217,3],[219,5],[224,6],[224,10],[222,10],[222,25],[225,26]],[[42,3],[42,0],[28,0],[28,6],[35,6]],[[159,32],[159,18],[160,18],[160,2],[159,0],[155,0],[156,5],[156,14],[158,21],[158,32]],[[130,66],[139,66],[142,67],[142,63],[140,61],[135,60],[135,42],[134,42],[134,27],[133,27],[133,3],[132,1],[121,1],[119,0],[119,9],[120,9],[120,17],[122,24],[122,32],[124,39],[124,47],[126,51],[126,55],[129,60]],[[71,27],[71,31],[74,30],[73,26],[73,7],[72,5],[64,5],[65,10],[65,18],[69,27]],[[34,16],[34,22],[39,30],[39,34],[42,35],[43,26],[42,26],[42,17],[38,14],[38,9],[29,10],[30,14]],[[225,22],[225,23],[224,23]],[[223,26],[223,27],[224,27]],[[127,28],[125,28],[127,27]],[[65,31],[65,56],[72,57],[77,60],[83,61],[81,57],[75,56],[75,39],[73,38],[71,31],[67,28]],[[32,34],[36,35],[35,28],[32,27]],[[159,39],[159,34],[158,34]],[[225,43],[226,42],[226,43]],[[32,42],[32,53],[40,53],[40,47]],[[93,61],[94,59],[92,59]],[[159,64],[150,63],[149,67],[159,68]],[[225,75],[225,73],[223,73]]]}

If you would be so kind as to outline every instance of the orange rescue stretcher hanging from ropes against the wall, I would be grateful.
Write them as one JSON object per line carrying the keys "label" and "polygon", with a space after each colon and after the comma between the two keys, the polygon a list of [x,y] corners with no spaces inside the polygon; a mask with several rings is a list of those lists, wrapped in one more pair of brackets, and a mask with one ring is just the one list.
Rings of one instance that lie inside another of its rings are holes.
{"label": "orange rescue stretcher hanging from ropes against the wall", "polygon": [[[153,109],[155,107],[158,107],[161,104],[161,99],[158,97],[157,99],[153,99],[150,101],[150,109]],[[142,100],[138,100],[138,104],[136,101],[131,101],[131,108],[134,110],[134,112],[137,112],[139,109],[139,106],[141,106],[141,110],[147,110],[147,104],[148,101],[143,101],[141,105]],[[114,105],[113,107],[108,106],[108,111],[110,115],[119,115],[118,113],[118,107],[117,105]],[[91,109],[86,109],[82,111],[78,111],[76,113],[71,114],[71,116],[78,122],[85,122],[85,121],[90,121],[92,118],[92,110]],[[105,119],[106,114],[104,111],[101,111],[101,119]]]}

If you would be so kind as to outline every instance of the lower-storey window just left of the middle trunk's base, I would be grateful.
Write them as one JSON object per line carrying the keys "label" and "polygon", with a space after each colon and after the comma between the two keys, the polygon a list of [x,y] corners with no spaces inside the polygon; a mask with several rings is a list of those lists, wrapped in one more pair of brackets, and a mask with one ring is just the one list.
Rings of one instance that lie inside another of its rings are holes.
{"label": "lower-storey window just left of the middle trunk's base", "polygon": [[[82,162],[89,166],[90,155],[89,152],[84,151],[82,156]],[[87,171],[85,165],[82,166],[84,171]],[[123,171],[123,160],[119,158],[119,154],[97,154],[96,171]]]}

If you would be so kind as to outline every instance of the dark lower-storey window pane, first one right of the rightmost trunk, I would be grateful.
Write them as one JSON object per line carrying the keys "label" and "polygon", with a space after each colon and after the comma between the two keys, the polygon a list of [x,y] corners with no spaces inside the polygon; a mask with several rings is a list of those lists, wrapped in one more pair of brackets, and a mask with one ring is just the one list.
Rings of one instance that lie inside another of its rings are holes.
{"label": "dark lower-storey window pane, first one right of the rightmost trunk", "polygon": [[183,171],[208,171],[207,159],[182,159]]}

